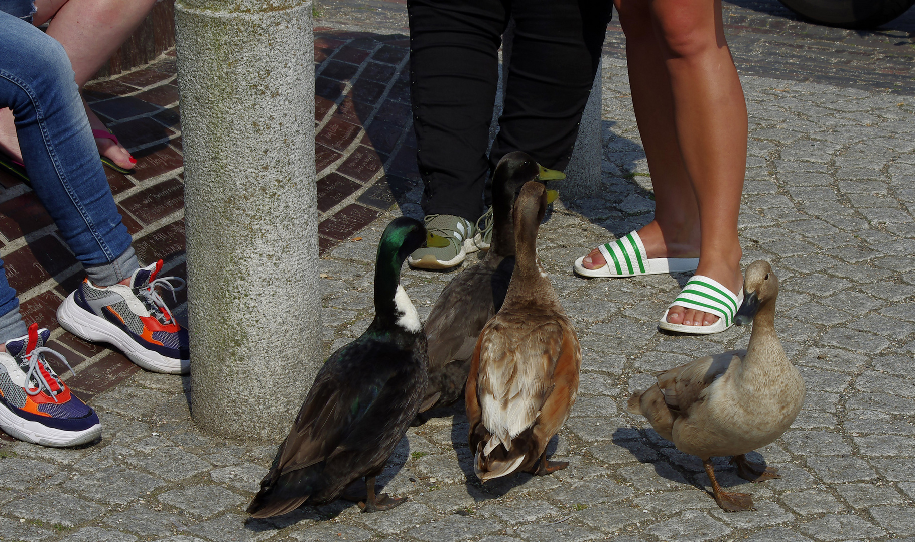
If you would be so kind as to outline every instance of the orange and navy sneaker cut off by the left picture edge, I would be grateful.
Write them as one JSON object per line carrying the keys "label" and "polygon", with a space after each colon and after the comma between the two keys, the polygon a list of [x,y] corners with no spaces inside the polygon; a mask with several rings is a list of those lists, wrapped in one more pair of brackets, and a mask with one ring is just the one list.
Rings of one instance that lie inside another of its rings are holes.
{"label": "orange and navy sneaker cut off by the left picture edge", "polygon": [[[28,334],[5,341],[0,352],[0,428],[16,439],[42,446],[77,446],[102,435],[99,417],[70,392],[48,364],[50,331],[28,327]],[[70,369],[72,371],[72,369]]]}

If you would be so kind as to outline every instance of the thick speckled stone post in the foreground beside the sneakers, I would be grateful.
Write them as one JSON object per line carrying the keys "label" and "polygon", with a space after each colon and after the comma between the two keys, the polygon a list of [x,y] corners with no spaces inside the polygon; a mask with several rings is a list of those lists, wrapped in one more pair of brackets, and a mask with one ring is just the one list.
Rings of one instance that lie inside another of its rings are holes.
{"label": "thick speckled stone post in the foreground beside the sneakers", "polygon": [[192,413],[283,439],[321,363],[311,2],[178,0]]}

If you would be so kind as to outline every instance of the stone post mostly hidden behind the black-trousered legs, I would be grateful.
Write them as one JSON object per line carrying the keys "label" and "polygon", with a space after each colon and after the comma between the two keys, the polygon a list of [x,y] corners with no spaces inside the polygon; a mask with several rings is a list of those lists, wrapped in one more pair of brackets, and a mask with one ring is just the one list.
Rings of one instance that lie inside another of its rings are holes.
{"label": "stone post mostly hidden behind the black-trousered legs", "polygon": [[[502,94],[508,81],[509,62],[511,59],[511,41],[514,39],[514,19],[509,21],[508,27],[502,34]],[[597,75],[591,86],[591,95],[587,98],[585,112],[581,115],[581,124],[578,126],[578,137],[575,148],[572,149],[572,158],[565,167],[566,180],[562,185],[556,185],[559,197],[563,201],[591,198],[600,190],[600,163],[603,159],[603,150],[600,145],[601,113],[603,109],[603,70],[604,60],[597,64]],[[501,102],[496,103],[498,120],[501,114]],[[491,133],[494,135],[495,130]]]}

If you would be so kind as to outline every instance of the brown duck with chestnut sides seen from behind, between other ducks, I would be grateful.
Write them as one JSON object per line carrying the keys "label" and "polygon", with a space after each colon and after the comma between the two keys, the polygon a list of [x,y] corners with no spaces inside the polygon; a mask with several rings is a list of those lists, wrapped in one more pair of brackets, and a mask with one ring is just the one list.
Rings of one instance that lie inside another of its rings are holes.
{"label": "brown duck with chestnut sides seen from behind, between other ducks", "polygon": [[526,183],[513,211],[514,273],[470,361],[469,444],[483,482],[518,471],[544,475],[568,465],[547,461],[546,445],[575,404],[581,346],[537,261],[545,210],[543,183]]}

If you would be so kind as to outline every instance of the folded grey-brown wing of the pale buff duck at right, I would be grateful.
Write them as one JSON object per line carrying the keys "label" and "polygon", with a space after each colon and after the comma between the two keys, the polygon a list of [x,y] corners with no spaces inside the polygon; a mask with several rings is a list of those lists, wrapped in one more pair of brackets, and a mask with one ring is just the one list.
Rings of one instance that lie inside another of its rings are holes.
{"label": "folded grey-brown wing of the pale buff duck at right", "polygon": [[718,378],[739,365],[745,351],[722,352],[655,373],[664,403],[675,413],[685,414],[705,397],[705,390]]}

